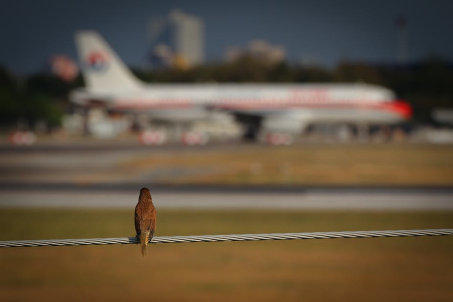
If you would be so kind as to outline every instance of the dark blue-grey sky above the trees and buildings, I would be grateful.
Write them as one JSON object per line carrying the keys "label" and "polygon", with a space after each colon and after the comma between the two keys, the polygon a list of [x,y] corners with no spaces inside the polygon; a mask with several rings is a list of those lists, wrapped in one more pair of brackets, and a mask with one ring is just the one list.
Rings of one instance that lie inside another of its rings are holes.
{"label": "dark blue-grey sky above the trees and buildings", "polygon": [[453,61],[451,0],[313,1],[0,1],[0,65],[16,74],[43,70],[55,54],[77,59],[74,33],[101,33],[126,64],[146,65],[150,23],[172,9],[200,17],[207,61],[231,46],[263,39],[283,46],[290,62],[395,62],[398,15],[407,21],[408,61],[439,55]]}

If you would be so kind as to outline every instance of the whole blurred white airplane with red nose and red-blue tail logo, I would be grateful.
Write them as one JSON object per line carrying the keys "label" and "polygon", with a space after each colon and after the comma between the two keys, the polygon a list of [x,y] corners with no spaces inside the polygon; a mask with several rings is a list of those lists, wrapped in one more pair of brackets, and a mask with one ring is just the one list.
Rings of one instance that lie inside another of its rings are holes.
{"label": "whole blurred white airplane with red nose and red-blue tail logo", "polygon": [[311,123],[394,124],[412,116],[391,90],[364,83],[145,84],[99,33],[79,31],[75,42],[86,87],[69,97],[85,107],[184,125],[223,111],[245,126],[244,138],[275,144],[291,143]]}

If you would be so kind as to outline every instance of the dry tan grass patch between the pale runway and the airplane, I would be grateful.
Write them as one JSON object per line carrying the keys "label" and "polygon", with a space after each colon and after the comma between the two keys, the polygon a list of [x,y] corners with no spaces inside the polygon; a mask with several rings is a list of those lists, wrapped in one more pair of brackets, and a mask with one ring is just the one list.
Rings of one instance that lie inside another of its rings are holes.
{"label": "dry tan grass patch between the pale runway and the airplane", "polygon": [[[160,173],[156,173],[160,171]],[[104,177],[154,173],[154,183],[314,186],[453,186],[453,146],[304,144],[154,152]],[[159,175],[159,176],[156,176]],[[86,175],[92,179],[92,175]],[[97,175],[96,177],[99,177]]]}

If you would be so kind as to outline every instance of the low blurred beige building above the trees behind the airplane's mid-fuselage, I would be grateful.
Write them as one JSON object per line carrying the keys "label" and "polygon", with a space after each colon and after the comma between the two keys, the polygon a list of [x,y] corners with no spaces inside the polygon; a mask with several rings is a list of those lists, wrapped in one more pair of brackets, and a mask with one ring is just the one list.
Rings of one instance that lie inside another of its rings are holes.
{"label": "low blurred beige building above the trees behind the airplane's mid-fuselage", "polygon": [[264,40],[252,40],[246,47],[234,46],[228,48],[225,58],[227,61],[232,62],[245,55],[274,64],[285,60],[286,51],[280,45],[272,45]]}

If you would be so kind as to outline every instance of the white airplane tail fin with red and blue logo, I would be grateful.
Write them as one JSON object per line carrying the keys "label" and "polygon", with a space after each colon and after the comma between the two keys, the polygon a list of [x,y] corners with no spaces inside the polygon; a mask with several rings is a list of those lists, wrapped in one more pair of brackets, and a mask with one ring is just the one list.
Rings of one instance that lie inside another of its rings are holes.
{"label": "white airplane tail fin with red and blue logo", "polygon": [[140,89],[142,83],[100,34],[79,31],[75,34],[75,43],[83,77],[91,91],[109,93]]}

